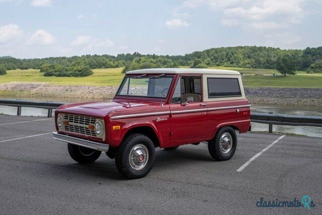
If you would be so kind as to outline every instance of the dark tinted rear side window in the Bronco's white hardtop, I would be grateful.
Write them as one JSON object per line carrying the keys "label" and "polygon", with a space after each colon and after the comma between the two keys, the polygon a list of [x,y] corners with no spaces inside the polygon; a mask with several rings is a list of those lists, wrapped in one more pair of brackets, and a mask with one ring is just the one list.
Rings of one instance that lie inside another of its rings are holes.
{"label": "dark tinted rear side window in the Bronco's white hardtop", "polygon": [[238,79],[207,78],[208,98],[241,96]]}

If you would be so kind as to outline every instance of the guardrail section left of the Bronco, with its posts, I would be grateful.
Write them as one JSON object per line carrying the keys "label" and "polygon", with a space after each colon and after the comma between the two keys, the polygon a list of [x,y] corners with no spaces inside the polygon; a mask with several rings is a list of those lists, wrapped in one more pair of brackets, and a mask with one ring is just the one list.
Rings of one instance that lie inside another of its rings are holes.
{"label": "guardrail section left of the Bronco, with its posts", "polygon": [[58,102],[34,102],[34,101],[26,101],[26,100],[7,100],[0,99],[0,105],[17,107],[17,116],[21,115],[22,107],[33,107],[33,108],[45,108],[48,109],[47,117],[52,117],[52,109],[56,109],[60,105],[65,103]]}

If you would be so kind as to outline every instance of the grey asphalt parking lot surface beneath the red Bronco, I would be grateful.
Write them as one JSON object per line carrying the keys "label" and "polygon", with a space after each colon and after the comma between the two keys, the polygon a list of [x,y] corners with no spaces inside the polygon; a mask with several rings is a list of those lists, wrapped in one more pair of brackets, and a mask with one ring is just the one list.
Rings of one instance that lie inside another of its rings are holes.
{"label": "grey asphalt parking lot surface beneath the red Bronco", "polygon": [[[236,153],[226,162],[213,161],[205,144],[157,149],[151,172],[127,180],[105,154],[93,164],[75,163],[67,146],[52,140],[53,130],[53,119],[0,115],[0,213],[322,211],[322,138],[285,136],[240,172],[281,135],[238,134]],[[303,195],[313,199],[311,210],[256,206],[261,197],[292,201]]]}

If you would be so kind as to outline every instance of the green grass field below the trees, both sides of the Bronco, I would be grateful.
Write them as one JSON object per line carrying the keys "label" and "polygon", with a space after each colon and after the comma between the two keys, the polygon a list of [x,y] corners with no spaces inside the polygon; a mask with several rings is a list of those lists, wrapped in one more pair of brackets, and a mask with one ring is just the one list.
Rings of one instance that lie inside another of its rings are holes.
{"label": "green grass field below the trees, both sides of the Bronco", "polygon": [[[322,88],[322,74],[306,74],[297,71],[295,76],[283,77],[275,69],[254,69],[235,67],[211,67],[232,69],[243,73],[245,87],[309,87]],[[0,84],[9,82],[42,82],[54,85],[97,85],[118,86],[124,77],[122,68],[93,69],[94,74],[89,77],[44,77],[38,69],[8,70],[7,75],[0,76]],[[278,76],[273,76],[273,74]]]}

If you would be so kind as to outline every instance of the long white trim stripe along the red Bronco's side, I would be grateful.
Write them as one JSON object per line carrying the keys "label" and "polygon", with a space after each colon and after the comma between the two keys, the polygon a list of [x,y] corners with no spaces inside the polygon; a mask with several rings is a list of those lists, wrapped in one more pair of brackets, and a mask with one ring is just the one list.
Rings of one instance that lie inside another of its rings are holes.
{"label": "long white trim stripe along the red Bronco's side", "polygon": [[164,111],[164,112],[154,112],[154,113],[138,113],[138,114],[128,114],[128,115],[120,115],[120,116],[112,116],[111,119],[122,119],[122,118],[130,118],[136,116],[154,116],[154,115],[162,115],[162,114],[176,114],[176,113],[190,113],[190,112],[201,112],[201,111],[211,111],[211,110],[224,110],[231,108],[243,108],[250,107],[251,105],[237,105],[237,106],[224,106],[224,107],[216,107],[216,108],[202,108],[202,109],[191,109],[191,110],[178,110],[178,111]]}

